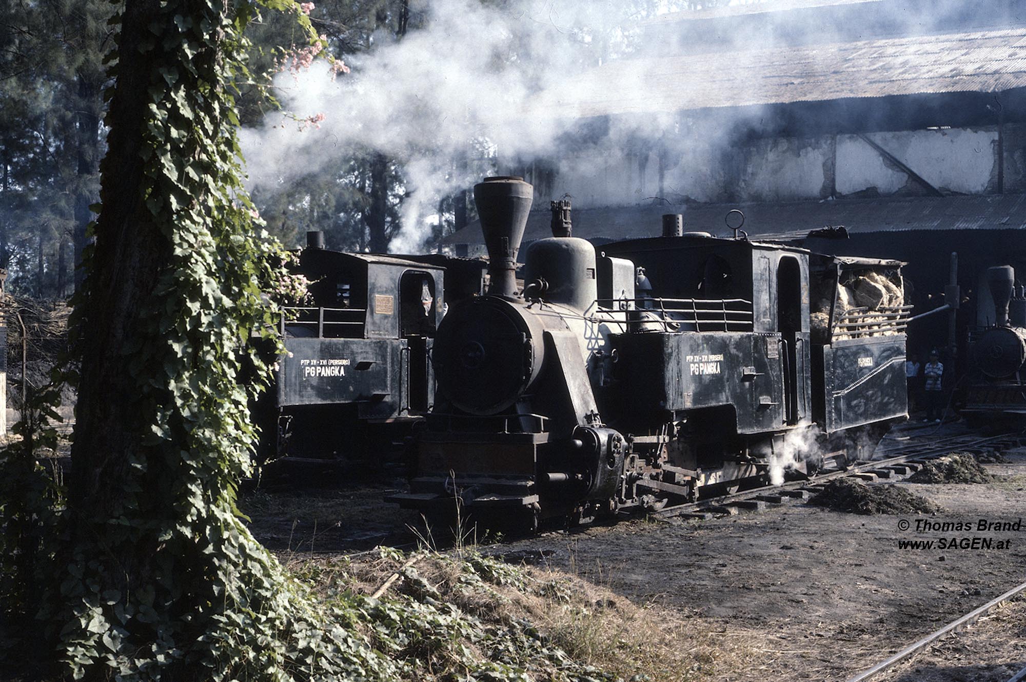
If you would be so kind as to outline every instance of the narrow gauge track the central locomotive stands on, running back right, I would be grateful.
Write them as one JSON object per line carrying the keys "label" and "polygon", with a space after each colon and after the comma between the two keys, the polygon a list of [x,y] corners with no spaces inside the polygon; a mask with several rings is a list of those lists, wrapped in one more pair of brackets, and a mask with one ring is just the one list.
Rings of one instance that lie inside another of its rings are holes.
{"label": "narrow gauge track the central locomotive stands on, running back right", "polygon": [[[760,506],[759,503],[762,505],[767,503],[780,504],[784,497],[804,499],[813,490],[836,478],[852,476],[870,481],[881,478],[897,479],[918,471],[922,464],[930,459],[936,459],[956,450],[973,451],[981,450],[985,447],[1000,447],[1014,443],[1018,443],[1018,438],[1016,434],[1009,433],[987,438],[960,436],[933,444],[914,443],[904,445],[900,448],[885,450],[884,452],[892,456],[883,459],[872,459],[847,469],[819,474],[807,480],[789,481],[781,485],[766,485],[760,488],[752,488],[751,490],[743,490],[696,503],[674,505],[673,507],[666,507],[653,512],[652,516],[660,519],[676,516],[708,518],[709,515],[717,512],[722,513],[726,511],[724,508],[732,506],[758,508]],[[901,454],[894,454],[895,452],[901,452]]]}

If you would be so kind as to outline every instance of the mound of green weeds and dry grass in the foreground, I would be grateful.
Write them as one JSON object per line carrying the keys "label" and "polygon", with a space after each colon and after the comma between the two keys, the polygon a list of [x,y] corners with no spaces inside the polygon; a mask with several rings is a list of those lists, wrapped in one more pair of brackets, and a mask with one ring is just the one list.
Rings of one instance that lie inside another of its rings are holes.
{"label": "mound of green weeds and dry grass in the foreground", "polygon": [[[362,627],[411,680],[686,682],[751,656],[689,614],[638,607],[577,575],[513,566],[467,544],[307,560],[293,572],[340,613],[362,614],[343,625]],[[401,579],[380,599],[366,597],[395,572]]]}

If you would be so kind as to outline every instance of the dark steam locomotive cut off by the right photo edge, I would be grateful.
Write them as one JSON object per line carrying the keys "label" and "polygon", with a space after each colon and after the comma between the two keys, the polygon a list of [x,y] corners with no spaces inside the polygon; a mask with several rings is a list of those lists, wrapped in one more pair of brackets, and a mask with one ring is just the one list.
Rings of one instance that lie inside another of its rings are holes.
{"label": "dark steam locomotive cut off by the right photo edge", "polygon": [[970,420],[1026,417],[1026,291],[1011,266],[987,270],[994,323],[972,330],[961,413]]}

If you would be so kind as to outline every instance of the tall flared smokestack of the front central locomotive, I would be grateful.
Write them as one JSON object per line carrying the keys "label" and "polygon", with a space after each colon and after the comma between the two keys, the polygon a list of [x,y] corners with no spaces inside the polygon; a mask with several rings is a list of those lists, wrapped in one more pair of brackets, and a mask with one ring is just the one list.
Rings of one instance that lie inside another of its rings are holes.
{"label": "tall flared smokestack of the front central locomotive", "polygon": [[481,218],[484,246],[488,249],[489,293],[516,294],[516,252],[527,227],[527,211],[535,188],[522,177],[485,177],[474,186],[474,203]]}

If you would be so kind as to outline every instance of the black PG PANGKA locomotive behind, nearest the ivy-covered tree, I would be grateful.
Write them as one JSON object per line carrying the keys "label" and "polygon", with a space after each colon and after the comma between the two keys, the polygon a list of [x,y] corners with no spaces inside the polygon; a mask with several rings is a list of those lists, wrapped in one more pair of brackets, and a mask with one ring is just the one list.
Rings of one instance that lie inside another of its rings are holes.
{"label": "black PG PANGKA locomotive behind, nearest the ivy-covered tree", "polygon": [[434,402],[435,329],[448,304],[483,292],[484,262],[334,251],[311,232],[293,274],[310,300],[286,309],[286,354],[254,409],[261,458],[398,464],[393,445]]}

